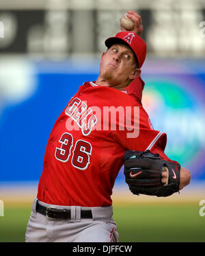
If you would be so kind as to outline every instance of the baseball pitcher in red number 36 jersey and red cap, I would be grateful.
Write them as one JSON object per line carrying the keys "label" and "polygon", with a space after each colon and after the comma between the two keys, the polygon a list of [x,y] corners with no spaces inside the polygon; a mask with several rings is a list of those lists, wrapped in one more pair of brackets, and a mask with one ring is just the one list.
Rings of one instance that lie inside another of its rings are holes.
{"label": "baseball pitcher in red number 36 jersey and red cap", "polygon": [[[111,194],[124,153],[150,150],[178,164],[165,156],[165,133],[153,130],[141,104],[124,92],[140,77],[146,43],[122,31],[105,45],[97,80],[79,86],[53,126],[26,242],[118,242]],[[190,172],[180,167],[178,174],[182,189]],[[167,176],[161,173],[162,186]]]}

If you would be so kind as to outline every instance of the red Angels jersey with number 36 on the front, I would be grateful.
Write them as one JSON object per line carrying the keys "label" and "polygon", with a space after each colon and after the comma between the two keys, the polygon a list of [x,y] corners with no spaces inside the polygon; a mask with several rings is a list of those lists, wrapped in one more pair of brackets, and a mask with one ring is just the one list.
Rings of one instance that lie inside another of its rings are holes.
{"label": "red Angels jersey with number 36 on the front", "polygon": [[52,205],[112,204],[126,150],[165,150],[141,104],[122,91],[86,82],[61,113],[46,146],[37,198]]}

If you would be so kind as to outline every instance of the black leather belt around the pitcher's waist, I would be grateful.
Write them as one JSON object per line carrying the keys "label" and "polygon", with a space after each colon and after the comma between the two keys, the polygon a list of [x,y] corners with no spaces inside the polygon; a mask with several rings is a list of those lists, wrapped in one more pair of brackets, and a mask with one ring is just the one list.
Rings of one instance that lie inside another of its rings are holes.
{"label": "black leather belt around the pitcher's waist", "polygon": [[[36,211],[51,220],[70,220],[71,219],[70,209],[56,209],[55,207],[44,207],[43,205],[40,205],[37,202]],[[92,211],[81,209],[81,218],[92,219]]]}

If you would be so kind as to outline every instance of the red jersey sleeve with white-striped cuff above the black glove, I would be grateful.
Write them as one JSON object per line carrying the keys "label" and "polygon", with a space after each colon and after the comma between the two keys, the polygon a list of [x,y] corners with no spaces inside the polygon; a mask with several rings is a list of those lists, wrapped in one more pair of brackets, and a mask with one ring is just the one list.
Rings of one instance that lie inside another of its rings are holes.
{"label": "red jersey sleeve with white-striped cuff above the black glove", "polygon": [[142,106],[127,107],[121,113],[113,137],[125,150],[151,151],[158,145],[164,151],[167,143],[164,132],[152,129],[149,116]]}

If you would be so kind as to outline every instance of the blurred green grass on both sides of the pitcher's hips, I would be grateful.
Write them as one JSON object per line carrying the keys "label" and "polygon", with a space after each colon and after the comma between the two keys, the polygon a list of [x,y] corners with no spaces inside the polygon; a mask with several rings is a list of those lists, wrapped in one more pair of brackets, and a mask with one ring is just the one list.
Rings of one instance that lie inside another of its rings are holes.
{"label": "blurred green grass on both sides of the pitcher's hips", "polygon": [[[31,202],[32,204],[32,202]],[[0,242],[24,242],[30,205],[5,204]],[[120,242],[205,242],[205,216],[193,203],[114,205]]]}

